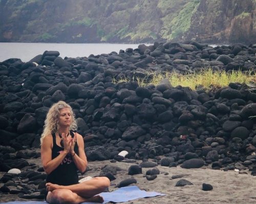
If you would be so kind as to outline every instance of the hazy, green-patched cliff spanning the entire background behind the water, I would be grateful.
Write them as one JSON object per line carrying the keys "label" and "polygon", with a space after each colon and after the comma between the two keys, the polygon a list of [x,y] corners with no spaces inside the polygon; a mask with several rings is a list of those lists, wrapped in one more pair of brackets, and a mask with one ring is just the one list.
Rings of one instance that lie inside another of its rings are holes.
{"label": "hazy, green-patched cliff spanning the entire background behind the water", "polygon": [[2,42],[255,42],[255,0],[0,0]]}

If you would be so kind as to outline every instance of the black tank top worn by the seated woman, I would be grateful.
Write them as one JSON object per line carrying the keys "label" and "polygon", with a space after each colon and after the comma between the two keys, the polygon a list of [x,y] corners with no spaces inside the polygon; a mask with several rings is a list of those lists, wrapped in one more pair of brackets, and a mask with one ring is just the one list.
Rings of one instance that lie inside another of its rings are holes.
{"label": "black tank top worn by the seated woman", "polygon": [[[74,133],[70,132],[71,137],[74,137]],[[52,159],[56,158],[61,151],[64,150],[63,147],[60,147],[56,144],[56,136],[53,133],[53,147],[52,147]],[[77,142],[74,146],[74,151],[78,154],[78,145]],[[62,160],[61,164],[54,169],[50,174],[46,177],[46,182],[50,182],[52,184],[58,184],[63,186],[69,186],[73,184],[78,184],[78,174],[77,167],[73,162],[72,156],[67,154],[67,156]]]}

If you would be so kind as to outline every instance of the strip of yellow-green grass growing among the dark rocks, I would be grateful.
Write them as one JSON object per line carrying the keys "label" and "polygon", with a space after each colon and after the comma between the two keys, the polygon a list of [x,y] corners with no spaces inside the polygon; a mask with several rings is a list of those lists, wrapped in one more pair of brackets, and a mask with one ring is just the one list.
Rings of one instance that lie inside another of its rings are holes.
{"label": "strip of yellow-green grass growing among the dark rocks", "polygon": [[182,87],[189,87],[192,90],[198,89],[198,87],[209,90],[212,88],[220,88],[228,86],[229,83],[241,83],[241,84],[255,84],[256,75],[254,71],[213,71],[211,68],[205,68],[202,71],[194,73],[181,74],[177,71],[173,72],[146,72],[146,77],[141,79],[133,77],[132,79],[121,79],[114,83],[136,81],[139,86],[145,87],[150,84],[157,86],[163,79],[168,79],[173,87],[178,85]]}

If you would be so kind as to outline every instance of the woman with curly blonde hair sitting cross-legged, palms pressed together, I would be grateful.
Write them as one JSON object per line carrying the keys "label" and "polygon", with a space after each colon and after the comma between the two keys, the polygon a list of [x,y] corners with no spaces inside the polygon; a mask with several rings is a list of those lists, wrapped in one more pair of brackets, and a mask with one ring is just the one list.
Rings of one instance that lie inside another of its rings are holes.
{"label": "woman with curly blonde hair sitting cross-legged, palms pressed together", "polygon": [[47,173],[46,201],[52,203],[103,202],[97,194],[110,186],[107,177],[78,183],[77,170],[84,172],[87,158],[72,108],[64,101],[54,104],[41,135],[41,161]]}

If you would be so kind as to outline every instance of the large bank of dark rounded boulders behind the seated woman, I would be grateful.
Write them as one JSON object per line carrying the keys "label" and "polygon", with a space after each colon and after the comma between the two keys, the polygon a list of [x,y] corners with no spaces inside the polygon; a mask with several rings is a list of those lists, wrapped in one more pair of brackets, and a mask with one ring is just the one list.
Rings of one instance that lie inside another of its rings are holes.
{"label": "large bank of dark rounded boulders behind the seated woman", "polygon": [[[152,70],[251,70],[255,53],[256,45],[211,47],[190,41],[141,44],[88,58],[62,59],[57,51],[46,51],[26,63],[6,60],[0,63],[0,171],[29,166],[26,158],[39,157],[20,150],[39,147],[49,107],[65,100],[76,114],[89,161],[121,161],[118,154],[126,150],[125,159],[154,159],[156,165],[249,168],[256,175],[255,88],[230,83],[207,93],[167,81],[147,87],[113,83],[144,78]],[[33,176],[44,179],[45,174]]]}

